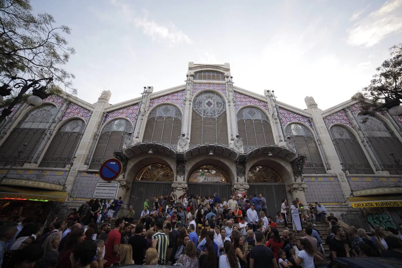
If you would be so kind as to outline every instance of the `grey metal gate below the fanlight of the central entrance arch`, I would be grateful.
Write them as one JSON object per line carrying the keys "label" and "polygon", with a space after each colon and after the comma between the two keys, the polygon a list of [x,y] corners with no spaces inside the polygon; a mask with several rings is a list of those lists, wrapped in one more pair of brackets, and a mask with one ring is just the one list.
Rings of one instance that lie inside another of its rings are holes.
{"label": "grey metal gate below the fanlight of the central entrance arch", "polygon": [[232,184],[230,183],[221,183],[221,182],[216,182],[216,183],[206,183],[206,182],[199,182],[199,183],[189,183],[188,184],[189,190],[187,191],[187,194],[190,196],[190,194],[193,195],[198,195],[202,196],[201,199],[205,195],[207,196],[213,196],[213,194],[216,192],[218,196],[222,198],[228,198],[232,195]]}

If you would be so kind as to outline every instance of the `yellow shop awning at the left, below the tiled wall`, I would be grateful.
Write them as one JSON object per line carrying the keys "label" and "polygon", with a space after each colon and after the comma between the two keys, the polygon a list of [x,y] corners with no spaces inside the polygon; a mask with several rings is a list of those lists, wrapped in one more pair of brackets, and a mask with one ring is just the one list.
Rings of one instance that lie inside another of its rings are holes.
{"label": "yellow shop awning at the left, below the tiled wall", "polygon": [[0,186],[0,199],[64,202],[67,192]]}

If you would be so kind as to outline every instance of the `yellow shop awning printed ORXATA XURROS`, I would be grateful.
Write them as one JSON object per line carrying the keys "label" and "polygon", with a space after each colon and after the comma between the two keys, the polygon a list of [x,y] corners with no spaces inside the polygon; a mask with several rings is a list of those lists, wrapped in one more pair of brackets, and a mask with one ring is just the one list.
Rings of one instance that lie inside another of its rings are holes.
{"label": "yellow shop awning printed ORXATA XURROS", "polygon": [[402,207],[400,195],[355,196],[349,198],[354,208]]}

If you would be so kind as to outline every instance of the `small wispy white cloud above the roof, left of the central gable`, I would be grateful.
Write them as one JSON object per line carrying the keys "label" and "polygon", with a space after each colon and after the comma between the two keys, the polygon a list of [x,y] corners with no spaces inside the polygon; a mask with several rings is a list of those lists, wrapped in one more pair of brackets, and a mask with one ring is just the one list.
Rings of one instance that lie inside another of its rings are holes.
{"label": "small wispy white cloud above the roof, left of the central gable", "polygon": [[154,41],[166,40],[170,45],[178,43],[191,44],[190,38],[177,29],[174,24],[169,21],[168,25],[160,25],[154,20],[147,20],[147,18],[136,18],[135,27],[142,28],[143,33],[152,37]]}

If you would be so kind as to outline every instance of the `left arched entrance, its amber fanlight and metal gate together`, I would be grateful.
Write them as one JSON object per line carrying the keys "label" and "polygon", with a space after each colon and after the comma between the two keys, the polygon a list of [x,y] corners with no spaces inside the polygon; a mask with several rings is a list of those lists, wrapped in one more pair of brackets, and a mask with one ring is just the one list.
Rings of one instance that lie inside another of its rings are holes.
{"label": "left arched entrance, its amber fanlight and metal gate together", "polygon": [[174,180],[173,170],[162,163],[154,163],[144,166],[133,180],[130,196],[130,206],[133,206],[135,218],[138,218],[144,209],[144,201],[149,199],[150,210],[154,198],[170,195],[172,182]]}

